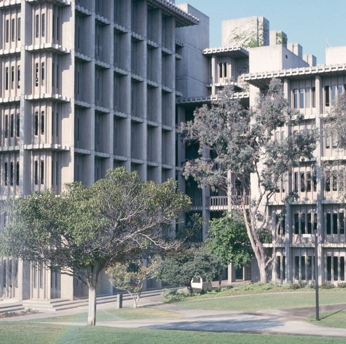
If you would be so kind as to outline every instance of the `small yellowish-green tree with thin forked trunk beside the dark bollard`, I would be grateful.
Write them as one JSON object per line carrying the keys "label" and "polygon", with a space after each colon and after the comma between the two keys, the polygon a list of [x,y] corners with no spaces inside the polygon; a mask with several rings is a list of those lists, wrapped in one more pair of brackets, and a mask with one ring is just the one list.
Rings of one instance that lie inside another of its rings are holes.
{"label": "small yellowish-green tree with thin forked trunk beside the dark bollard", "polygon": [[143,264],[143,260],[135,260],[128,264],[120,262],[109,266],[106,270],[110,275],[111,284],[114,287],[125,290],[134,300],[134,308],[137,308],[145,281],[153,278],[158,269],[160,260],[151,260],[149,264]]}

